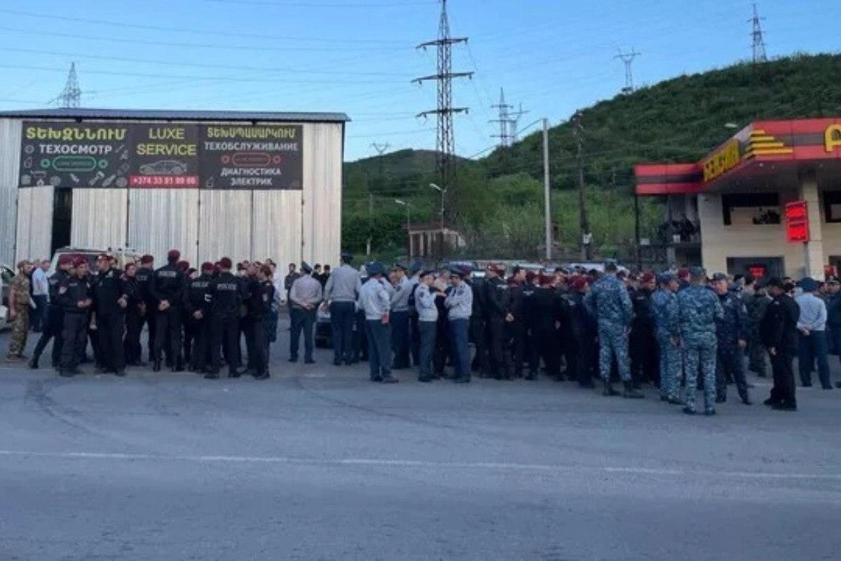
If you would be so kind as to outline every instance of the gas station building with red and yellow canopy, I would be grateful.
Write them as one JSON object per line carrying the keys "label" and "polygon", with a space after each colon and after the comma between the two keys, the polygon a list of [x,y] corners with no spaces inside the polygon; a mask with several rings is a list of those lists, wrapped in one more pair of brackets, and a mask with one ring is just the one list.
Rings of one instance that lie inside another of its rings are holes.
{"label": "gas station building with red and yellow canopy", "polygon": [[699,225],[700,251],[678,254],[679,265],[818,279],[841,270],[841,117],[755,122],[697,163],[635,173],[637,195],[665,196],[669,215]]}

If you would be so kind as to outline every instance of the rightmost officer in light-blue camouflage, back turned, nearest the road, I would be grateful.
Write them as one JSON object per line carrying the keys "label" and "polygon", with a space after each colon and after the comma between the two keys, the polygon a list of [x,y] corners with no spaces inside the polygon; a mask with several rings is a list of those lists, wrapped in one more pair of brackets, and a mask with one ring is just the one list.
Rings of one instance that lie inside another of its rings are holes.
{"label": "rightmost officer in light-blue camouflage, back turned, nearest the road", "polygon": [[716,320],[724,317],[722,304],[706,288],[706,271],[702,267],[690,269],[689,286],[678,293],[678,320],[684,347],[686,373],[686,406],[684,413],[695,415],[698,392],[698,368],[704,377],[704,412],[715,415],[716,400]]}

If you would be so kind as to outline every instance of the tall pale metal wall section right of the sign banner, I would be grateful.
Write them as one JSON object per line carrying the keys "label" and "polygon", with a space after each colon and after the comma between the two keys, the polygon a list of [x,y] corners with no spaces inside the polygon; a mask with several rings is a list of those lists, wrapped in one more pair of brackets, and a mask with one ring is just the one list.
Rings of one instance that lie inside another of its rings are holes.
{"label": "tall pale metal wall section right of the sign banner", "polygon": [[339,261],[341,252],[341,124],[304,126],[304,260]]}

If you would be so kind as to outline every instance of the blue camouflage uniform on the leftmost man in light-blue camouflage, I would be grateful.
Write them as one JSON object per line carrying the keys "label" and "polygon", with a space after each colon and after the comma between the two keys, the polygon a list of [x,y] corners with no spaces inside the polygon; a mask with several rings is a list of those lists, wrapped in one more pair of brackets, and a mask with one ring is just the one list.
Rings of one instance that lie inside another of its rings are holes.
{"label": "blue camouflage uniform on the leftmost man in light-blue camouflage", "polygon": [[607,274],[593,283],[584,297],[584,307],[599,326],[599,373],[604,381],[611,377],[611,360],[616,356],[623,382],[631,381],[628,361],[628,325],[631,325],[633,304],[625,284],[616,275]]}

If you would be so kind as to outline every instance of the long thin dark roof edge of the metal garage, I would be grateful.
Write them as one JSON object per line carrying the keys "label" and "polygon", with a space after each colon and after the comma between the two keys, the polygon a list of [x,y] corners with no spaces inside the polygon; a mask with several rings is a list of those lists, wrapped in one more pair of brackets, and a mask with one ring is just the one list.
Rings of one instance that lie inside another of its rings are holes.
{"label": "long thin dark roof edge of the metal garage", "polygon": [[12,119],[136,119],[186,121],[262,121],[278,123],[346,123],[344,113],[275,113],[269,111],[193,111],[171,109],[50,108],[0,111]]}

